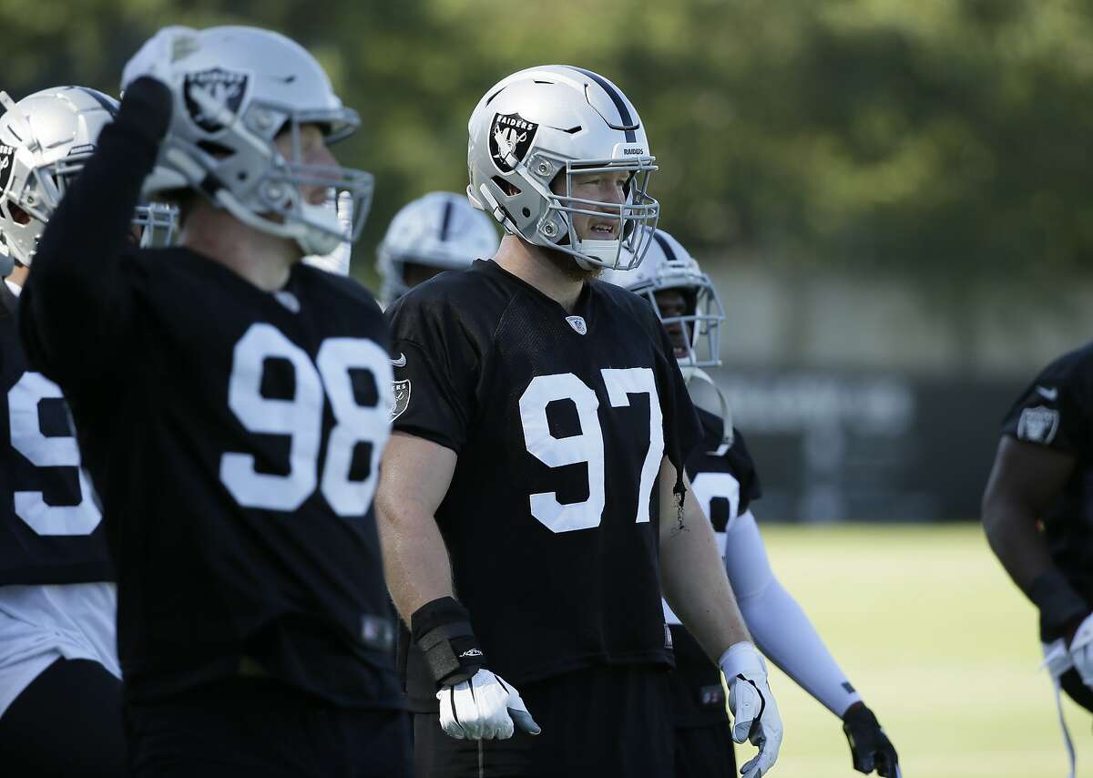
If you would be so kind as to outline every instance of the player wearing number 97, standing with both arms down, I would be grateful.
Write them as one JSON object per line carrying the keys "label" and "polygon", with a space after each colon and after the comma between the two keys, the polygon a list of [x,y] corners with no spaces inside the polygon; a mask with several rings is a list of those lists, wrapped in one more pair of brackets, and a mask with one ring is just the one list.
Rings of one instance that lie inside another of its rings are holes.
{"label": "player wearing number 97, standing with both arms down", "polygon": [[468,196],[507,235],[387,310],[377,518],[418,774],[671,775],[662,587],[766,775],[781,722],[683,474],[697,417],[654,311],[595,280],[657,219],[645,128],[607,79],[545,66],[486,92],[469,133]]}

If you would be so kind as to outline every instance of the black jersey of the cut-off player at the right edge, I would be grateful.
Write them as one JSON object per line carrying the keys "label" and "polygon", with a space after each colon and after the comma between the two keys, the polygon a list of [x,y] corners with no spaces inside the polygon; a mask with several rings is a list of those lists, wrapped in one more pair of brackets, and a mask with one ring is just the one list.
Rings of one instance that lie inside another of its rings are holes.
{"label": "black jersey of the cut-off player at the right edge", "polygon": [[1056,566],[1093,602],[1093,343],[1045,367],[1006,415],[1002,434],[1074,457],[1074,472],[1042,518]]}

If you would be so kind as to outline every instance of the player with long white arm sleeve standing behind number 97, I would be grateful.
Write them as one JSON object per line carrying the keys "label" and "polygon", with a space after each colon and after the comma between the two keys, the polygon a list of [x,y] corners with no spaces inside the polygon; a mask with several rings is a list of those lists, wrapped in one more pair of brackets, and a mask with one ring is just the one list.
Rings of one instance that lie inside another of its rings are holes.
{"label": "player with long white arm sleeve standing behind number 97", "polygon": [[[720,413],[698,408],[703,437],[686,461],[698,504],[717,533],[725,570],[740,611],[760,649],[821,705],[839,717],[850,743],[854,768],[898,775],[895,748],[877,717],[855,692],[797,601],[774,577],[751,504],[760,496],[759,474],[729,405],[706,368],[720,365],[719,334],[725,311],[709,276],[662,229],[640,267],[608,271],[604,281],[645,297],[672,340],[685,380],[701,380],[716,391]],[[717,665],[665,602],[675,649],[671,676],[675,715],[675,775],[736,774],[728,736],[725,693]]]}

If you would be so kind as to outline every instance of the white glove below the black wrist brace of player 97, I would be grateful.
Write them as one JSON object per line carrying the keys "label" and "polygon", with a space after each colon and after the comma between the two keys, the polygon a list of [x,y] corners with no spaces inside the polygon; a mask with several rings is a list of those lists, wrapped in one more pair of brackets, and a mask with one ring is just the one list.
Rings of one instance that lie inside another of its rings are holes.
{"label": "white glove below the black wrist brace of player 97", "polygon": [[457,740],[505,740],[514,723],[522,732],[539,734],[519,693],[489,670],[436,693],[440,703],[440,729]]}

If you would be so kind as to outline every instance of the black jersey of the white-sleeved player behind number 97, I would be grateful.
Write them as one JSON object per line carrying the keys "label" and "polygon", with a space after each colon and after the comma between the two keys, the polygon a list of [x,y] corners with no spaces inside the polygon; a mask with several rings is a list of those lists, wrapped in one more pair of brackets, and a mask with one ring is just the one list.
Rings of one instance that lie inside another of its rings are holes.
{"label": "black jersey of the white-sleeved player behind number 97", "polygon": [[[748,512],[761,491],[755,463],[739,429],[733,428],[732,446],[720,451],[724,423],[720,417],[698,409],[702,445],[686,461],[691,487],[717,532],[718,546],[725,553],[725,531],[738,516]],[[706,652],[686,628],[669,614],[675,648],[675,672],[671,675],[673,721],[677,727],[724,724],[725,691],[721,675]]]}

